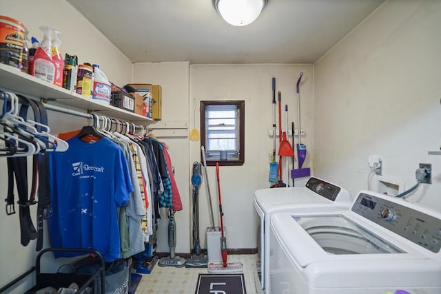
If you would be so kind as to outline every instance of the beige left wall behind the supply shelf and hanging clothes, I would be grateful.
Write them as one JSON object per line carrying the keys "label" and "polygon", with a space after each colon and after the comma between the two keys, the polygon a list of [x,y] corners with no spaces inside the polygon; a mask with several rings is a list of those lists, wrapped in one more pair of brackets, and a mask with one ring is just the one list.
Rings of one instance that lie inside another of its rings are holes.
{"label": "beige left wall behind the supply shelf and hanging clothes", "polygon": [[[49,25],[61,32],[61,52],[79,56],[79,62],[97,63],[107,77],[117,85],[131,81],[132,62],[117,50],[110,41],[86,21],[65,1],[50,0],[0,0],[0,14],[7,15],[24,23],[30,36],[42,41],[40,25]],[[68,132],[85,125],[84,118],[49,112],[51,133]],[[6,198],[7,172],[6,159],[0,158],[0,199]],[[4,286],[35,264],[35,241],[26,247],[20,244],[18,207],[14,216],[0,213],[0,286]],[[31,208],[31,215],[36,216],[36,207]],[[35,224],[35,220],[34,220]],[[45,240],[44,246],[49,246]],[[33,280],[14,289],[13,293],[23,293],[34,285]],[[11,291],[9,289],[8,291]]]}

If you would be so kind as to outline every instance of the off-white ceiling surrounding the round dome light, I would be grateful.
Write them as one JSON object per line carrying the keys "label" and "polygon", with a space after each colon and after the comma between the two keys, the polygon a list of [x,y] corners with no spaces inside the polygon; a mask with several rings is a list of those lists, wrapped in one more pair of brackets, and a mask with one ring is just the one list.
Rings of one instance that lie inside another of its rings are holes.
{"label": "off-white ceiling surrounding the round dome light", "polygon": [[251,25],[212,0],[68,0],[132,62],[314,63],[384,0],[269,0]]}

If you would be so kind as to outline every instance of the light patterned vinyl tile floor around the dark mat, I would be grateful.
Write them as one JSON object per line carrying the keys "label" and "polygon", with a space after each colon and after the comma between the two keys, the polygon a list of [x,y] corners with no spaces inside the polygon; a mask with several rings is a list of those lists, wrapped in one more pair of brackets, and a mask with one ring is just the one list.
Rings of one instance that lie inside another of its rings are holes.
{"label": "light patterned vinyl tile floor around the dark mat", "polygon": [[[247,294],[256,294],[254,277],[256,272],[256,254],[228,255],[228,262],[242,262],[243,276]],[[173,266],[154,266],[152,273],[143,274],[135,294],[187,294],[195,293],[196,282],[200,273],[207,269],[187,269]]]}

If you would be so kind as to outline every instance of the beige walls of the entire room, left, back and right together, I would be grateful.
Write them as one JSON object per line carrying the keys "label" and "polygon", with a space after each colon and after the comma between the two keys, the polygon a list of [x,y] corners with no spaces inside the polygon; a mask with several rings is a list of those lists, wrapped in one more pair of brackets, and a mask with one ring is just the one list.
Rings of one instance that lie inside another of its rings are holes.
{"label": "beige walls of the entire room, left, back and right together", "polygon": [[[64,1],[0,0],[1,14],[19,19],[37,35],[39,25],[50,25],[62,33],[62,52],[77,54],[80,62],[99,63],[111,81],[124,85],[159,83],[163,86],[163,120],[183,120],[189,129],[199,125],[199,101],[245,100],[245,164],[221,167],[220,181],[229,248],[256,247],[257,216],[253,192],[269,187],[268,154],[272,139],[271,78],[289,105],[289,123],[296,123],[296,81],[300,85],[302,143],[309,151],[306,167],[314,174],[347,187],[354,195],[367,187],[367,157],[378,154],[383,174],[402,179],[406,187],[415,182],[418,163],[433,165],[433,184],[418,189],[409,201],[441,211],[440,68],[441,2],[387,1],[364,23],[315,65],[189,65],[183,63],[132,63],[88,21]],[[23,9],[28,7],[28,9]],[[32,9],[29,9],[32,8]],[[58,13],[58,14],[57,14]],[[196,101],[196,125],[193,124]],[[283,114],[285,124],[285,114]],[[83,125],[81,118],[50,114],[55,134]],[[200,160],[200,142],[188,138],[165,138],[175,165],[183,200],[176,213],[176,252],[188,253],[191,232],[192,162]],[[291,139],[289,139],[291,141]],[[314,154],[314,158],[312,155]],[[314,162],[313,162],[314,159]],[[291,160],[289,160],[291,162]],[[0,187],[6,187],[6,160],[0,158]],[[206,180],[200,193],[201,237],[209,226]],[[296,181],[296,186],[305,179]],[[214,167],[209,184],[218,224]],[[0,190],[6,198],[6,189]],[[34,209],[34,208],[33,208]],[[32,211],[32,215],[34,215]],[[34,264],[34,243],[19,244],[18,216],[0,214],[0,285]],[[167,251],[167,218],[158,232],[158,251]],[[202,238],[203,239],[203,238]],[[201,242],[205,248],[205,240]],[[45,244],[48,245],[47,240]],[[16,290],[23,293],[32,282]]]}

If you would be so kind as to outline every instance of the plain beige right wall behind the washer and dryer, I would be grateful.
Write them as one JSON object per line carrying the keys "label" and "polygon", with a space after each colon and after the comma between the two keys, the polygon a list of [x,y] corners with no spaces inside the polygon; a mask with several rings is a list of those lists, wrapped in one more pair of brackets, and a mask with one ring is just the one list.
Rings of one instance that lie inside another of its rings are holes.
{"label": "plain beige right wall behind the washer and dryer", "polygon": [[387,1],[316,63],[317,176],[354,195],[378,154],[408,189],[431,163],[433,184],[409,201],[441,211],[441,156],[427,153],[441,143],[440,28],[440,1]]}

